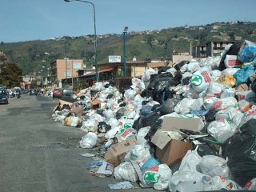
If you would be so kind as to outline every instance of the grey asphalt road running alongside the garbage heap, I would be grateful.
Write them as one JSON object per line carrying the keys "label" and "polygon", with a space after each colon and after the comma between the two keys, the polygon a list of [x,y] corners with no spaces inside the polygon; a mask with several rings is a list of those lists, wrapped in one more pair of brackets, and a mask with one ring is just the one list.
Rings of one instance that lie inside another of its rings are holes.
{"label": "grey asphalt road running alongside the garbage heap", "polygon": [[107,191],[120,182],[89,173],[94,160],[79,155],[92,152],[78,147],[84,133],[51,118],[58,100],[22,94],[9,103],[0,105],[1,192]]}

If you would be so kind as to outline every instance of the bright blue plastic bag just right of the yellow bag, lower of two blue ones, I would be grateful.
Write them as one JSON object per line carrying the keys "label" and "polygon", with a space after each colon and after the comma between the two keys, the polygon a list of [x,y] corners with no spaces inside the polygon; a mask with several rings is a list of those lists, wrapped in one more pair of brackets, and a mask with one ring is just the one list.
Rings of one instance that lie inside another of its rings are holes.
{"label": "bright blue plastic bag just right of the yellow bag, lower of two blue ones", "polygon": [[236,78],[235,86],[239,86],[242,83],[250,81],[250,74],[254,73],[253,66],[246,66],[245,68],[238,70],[233,76]]}

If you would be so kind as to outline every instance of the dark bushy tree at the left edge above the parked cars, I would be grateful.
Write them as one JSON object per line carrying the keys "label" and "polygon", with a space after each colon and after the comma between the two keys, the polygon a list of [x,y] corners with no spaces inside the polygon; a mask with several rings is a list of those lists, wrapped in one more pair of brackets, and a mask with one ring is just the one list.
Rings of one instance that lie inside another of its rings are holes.
{"label": "dark bushy tree at the left edge above the parked cars", "polygon": [[0,84],[12,88],[22,82],[22,70],[14,63],[1,65]]}

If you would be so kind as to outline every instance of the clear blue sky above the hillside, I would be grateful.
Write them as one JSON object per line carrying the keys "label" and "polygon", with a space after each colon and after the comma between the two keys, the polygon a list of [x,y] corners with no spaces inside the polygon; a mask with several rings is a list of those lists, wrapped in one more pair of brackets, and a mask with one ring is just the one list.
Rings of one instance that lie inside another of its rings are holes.
{"label": "clear blue sky above the hillside", "polygon": [[[97,34],[212,22],[256,22],[256,0],[92,0]],[[64,0],[0,0],[0,42],[94,34],[93,7]]]}

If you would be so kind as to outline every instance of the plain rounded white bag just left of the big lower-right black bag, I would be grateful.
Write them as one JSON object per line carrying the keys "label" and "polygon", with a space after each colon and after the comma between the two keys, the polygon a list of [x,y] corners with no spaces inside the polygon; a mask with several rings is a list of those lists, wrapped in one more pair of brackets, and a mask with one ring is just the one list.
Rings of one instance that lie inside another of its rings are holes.
{"label": "plain rounded white bag just left of the big lower-right black bag", "polygon": [[199,166],[202,170],[202,173],[207,174],[210,177],[222,175],[225,178],[229,178],[230,176],[230,170],[227,166],[227,161],[224,158],[215,155],[203,156]]}

